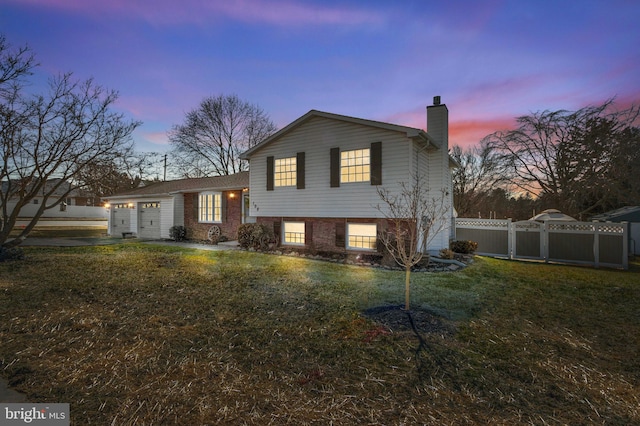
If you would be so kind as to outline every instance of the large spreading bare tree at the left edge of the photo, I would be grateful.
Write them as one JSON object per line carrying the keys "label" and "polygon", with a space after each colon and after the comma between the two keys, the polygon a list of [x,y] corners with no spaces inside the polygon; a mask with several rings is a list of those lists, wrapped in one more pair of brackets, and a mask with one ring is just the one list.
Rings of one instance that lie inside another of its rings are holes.
{"label": "large spreading bare tree at the left edge of the photo", "polygon": [[[4,38],[0,63],[0,246],[13,247],[24,241],[45,210],[100,179],[80,177],[86,167],[130,149],[139,123],[110,111],[116,92],[93,80],[75,82],[71,74],[52,78],[47,94],[25,94],[22,84],[31,75],[33,56],[27,48],[12,52]],[[30,223],[9,239],[21,209],[35,197],[42,201]]]}

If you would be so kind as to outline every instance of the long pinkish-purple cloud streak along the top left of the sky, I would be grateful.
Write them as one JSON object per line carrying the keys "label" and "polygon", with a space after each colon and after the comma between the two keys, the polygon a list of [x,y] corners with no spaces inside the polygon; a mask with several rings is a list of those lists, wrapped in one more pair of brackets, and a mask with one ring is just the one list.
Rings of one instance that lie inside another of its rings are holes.
{"label": "long pinkish-purple cloud streak along the top left of the sky", "polygon": [[110,0],[9,0],[20,5],[33,5],[66,10],[89,16],[115,14],[139,17],[156,25],[203,23],[221,18],[276,26],[379,24],[380,14],[365,9],[299,4],[294,1],[260,0],[195,1],[155,0],[136,2]]}

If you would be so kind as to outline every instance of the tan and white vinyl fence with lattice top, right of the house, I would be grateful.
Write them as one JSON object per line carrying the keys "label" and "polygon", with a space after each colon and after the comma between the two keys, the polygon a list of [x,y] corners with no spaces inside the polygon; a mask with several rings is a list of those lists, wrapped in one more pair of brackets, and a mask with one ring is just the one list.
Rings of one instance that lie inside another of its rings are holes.
{"label": "tan and white vinyl fence with lattice top, right of the house", "polygon": [[485,256],[629,267],[627,223],[459,218],[456,239],[477,242]]}

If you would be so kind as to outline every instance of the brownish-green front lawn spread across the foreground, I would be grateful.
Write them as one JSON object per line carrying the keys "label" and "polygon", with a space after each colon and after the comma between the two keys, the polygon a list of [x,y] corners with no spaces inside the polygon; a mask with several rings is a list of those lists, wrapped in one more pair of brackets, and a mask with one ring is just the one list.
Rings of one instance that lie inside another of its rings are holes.
{"label": "brownish-green front lawn spread across the foreground", "polygon": [[0,263],[0,374],[77,425],[640,424],[640,268],[415,273],[146,246]]}

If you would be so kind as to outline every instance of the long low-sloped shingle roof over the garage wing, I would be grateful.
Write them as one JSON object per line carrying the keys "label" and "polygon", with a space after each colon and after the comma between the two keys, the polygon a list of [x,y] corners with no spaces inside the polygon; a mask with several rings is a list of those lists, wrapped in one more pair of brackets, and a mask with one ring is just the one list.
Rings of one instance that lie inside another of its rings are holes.
{"label": "long low-sloped shingle roof over the garage wing", "polygon": [[232,189],[243,189],[249,186],[249,172],[240,172],[226,176],[212,176],[204,178],[189,178],[156,182],[111,195],[107,198],[131,198],[149,196],[168,196],[183,192],[200,191],[225,191]]}

